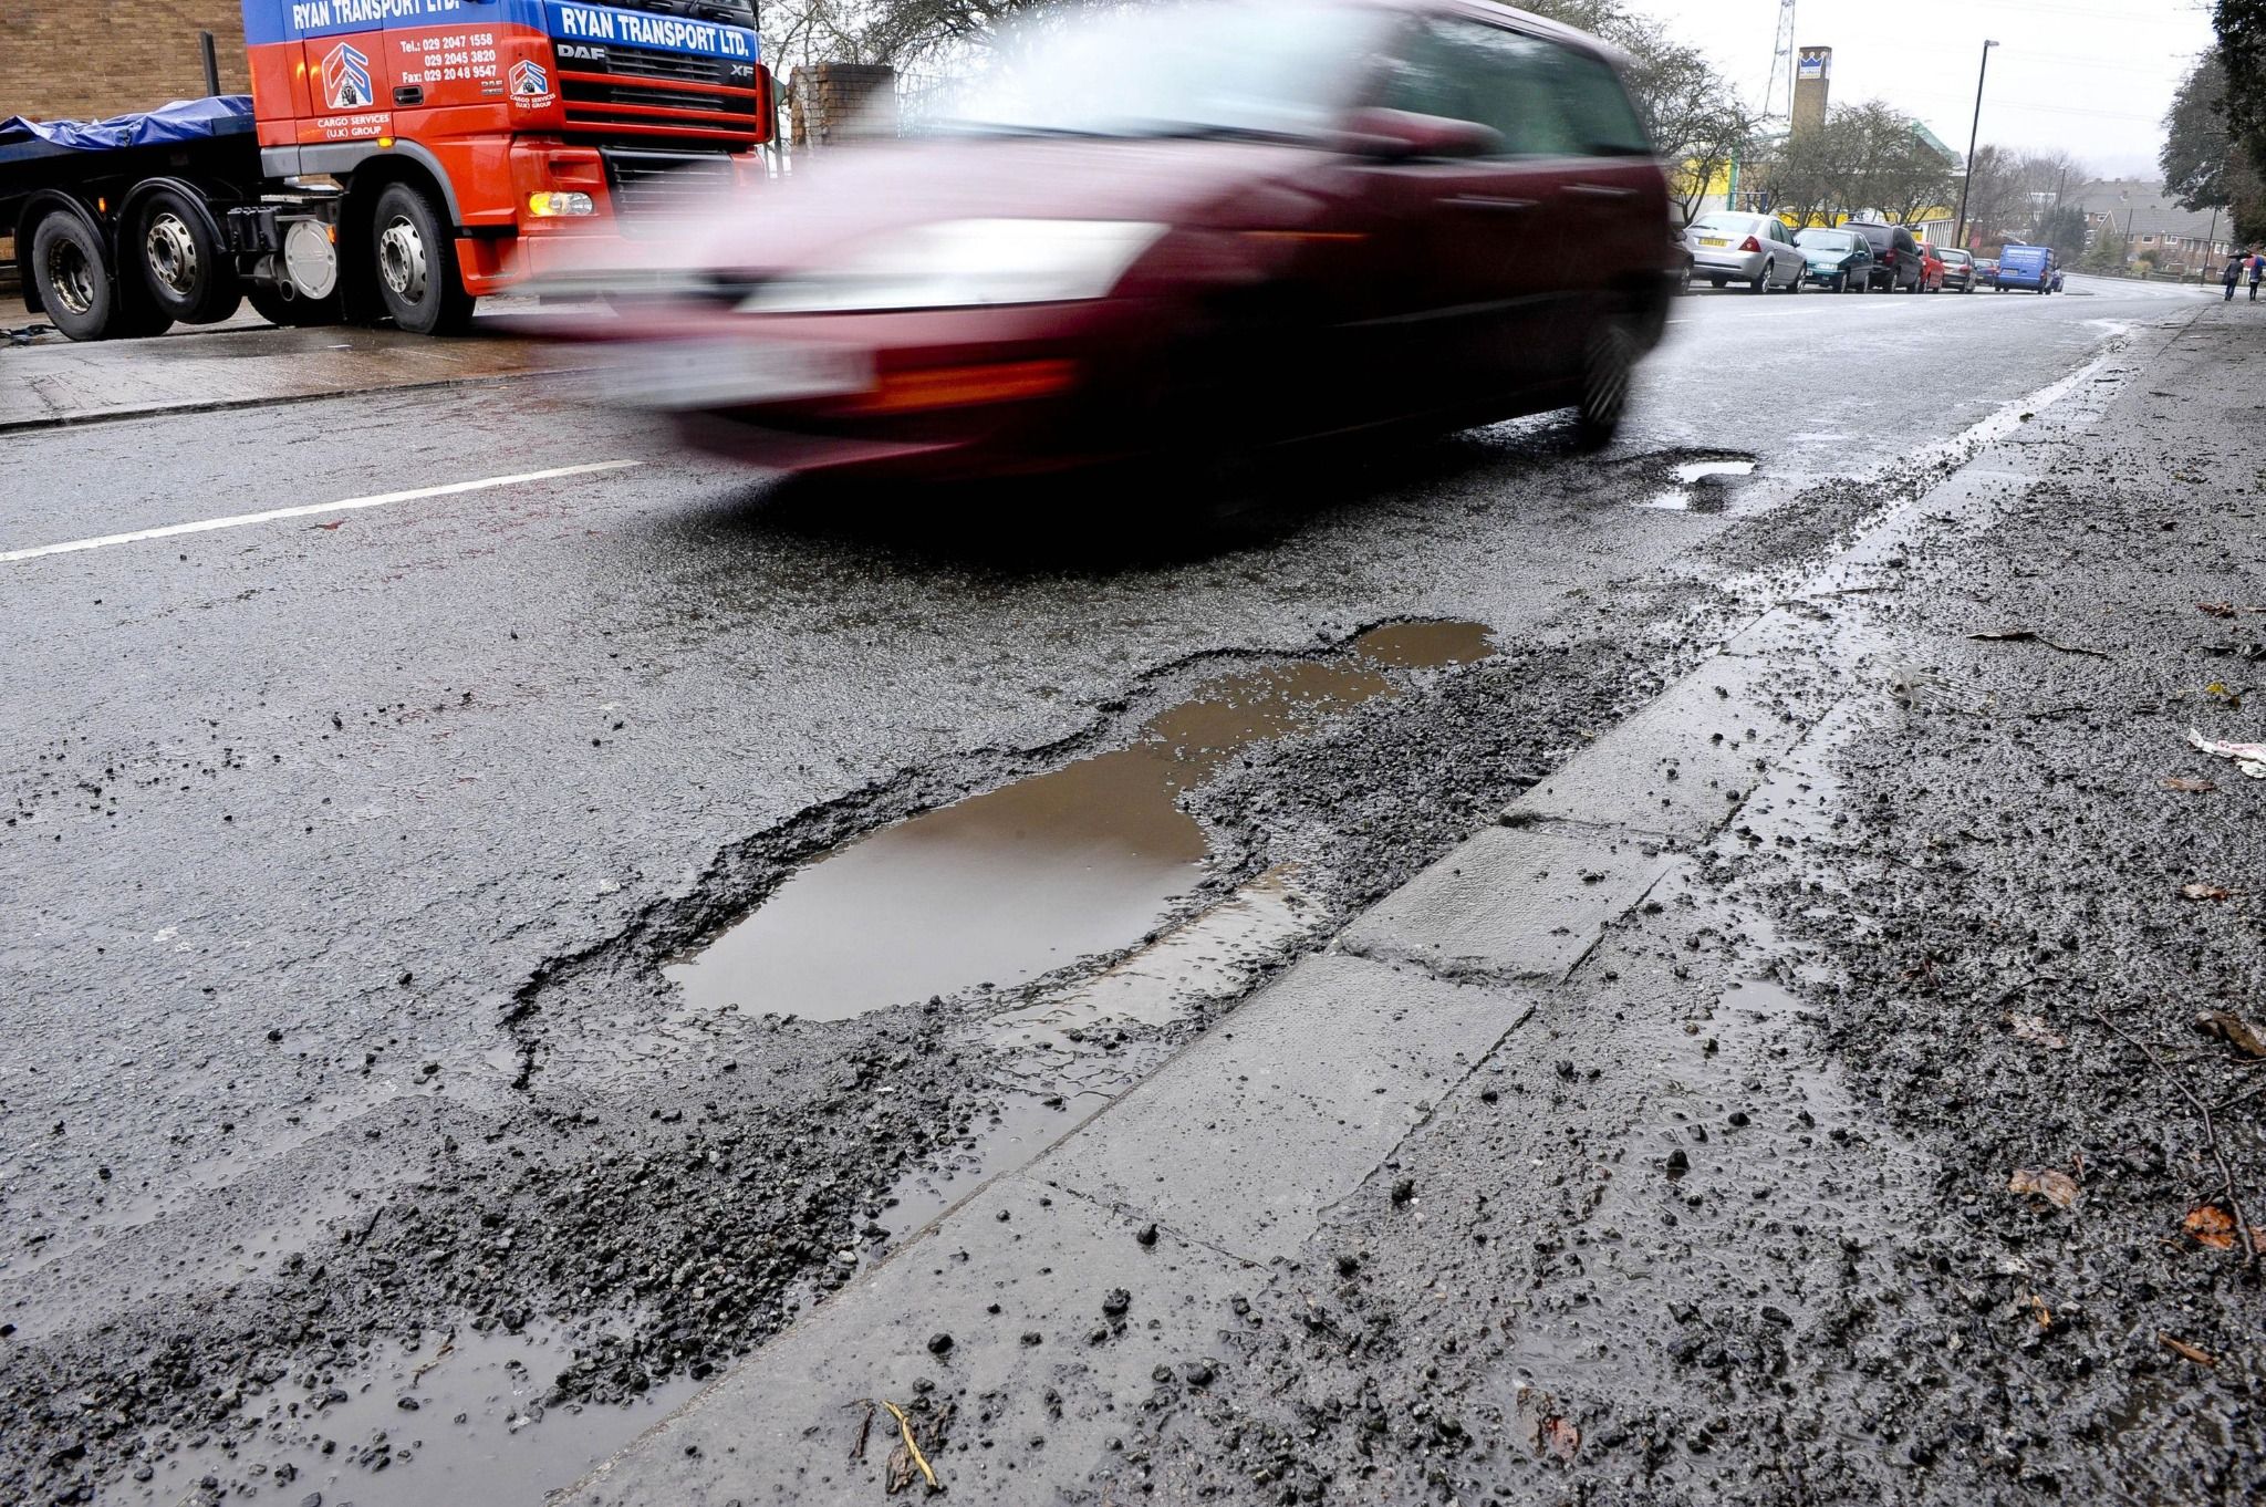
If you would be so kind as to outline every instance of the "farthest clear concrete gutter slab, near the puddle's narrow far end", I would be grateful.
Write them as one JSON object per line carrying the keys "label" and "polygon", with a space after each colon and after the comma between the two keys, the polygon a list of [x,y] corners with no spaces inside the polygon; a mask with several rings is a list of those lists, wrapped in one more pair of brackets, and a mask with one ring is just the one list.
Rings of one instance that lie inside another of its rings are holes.
{"label": "farthest clear concrete gutter slab, near the puddle's narrow far end", "polygon": [[1507,816],[1704,841],[1763,777],[1758,766],[1824,716],[1820,691],[1792,684],[1770,659],[1715,655],[1514,800]]}

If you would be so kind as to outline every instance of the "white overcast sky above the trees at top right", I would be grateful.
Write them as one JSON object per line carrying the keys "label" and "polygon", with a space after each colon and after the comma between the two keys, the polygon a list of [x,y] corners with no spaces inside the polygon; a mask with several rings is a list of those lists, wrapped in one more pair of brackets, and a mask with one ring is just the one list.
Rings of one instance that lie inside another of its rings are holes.
{"label": "white overcast sky above the trees at top right", "polygon": [[[1511,0],[1516,5],[1518,0]],[[1754,102],[1779,0],[1636,0]],[[1799,0],[1797,45],[1833,48],[1833,102],[1888,100],[1967,150],[1976,63],[1996,39],[1983,141],[2064,150],[2103,177],[2155,177],[2164,111],[2212,43],[2207,0]]]}

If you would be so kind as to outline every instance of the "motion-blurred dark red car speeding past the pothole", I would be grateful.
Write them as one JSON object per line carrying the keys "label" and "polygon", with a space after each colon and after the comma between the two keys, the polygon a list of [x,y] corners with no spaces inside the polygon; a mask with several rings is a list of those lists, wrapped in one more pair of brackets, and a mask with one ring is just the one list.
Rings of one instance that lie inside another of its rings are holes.
{"label": "motion-blurred dark red car speeding past the pothole", "polygon": [[[1666,184],[1598,41],[1466,0],[1060,18],[619,299],[612,388],[773,469],[1201,455],[1575,408],[1666,320]],[[648,270],[650,272],[650,270]]]}

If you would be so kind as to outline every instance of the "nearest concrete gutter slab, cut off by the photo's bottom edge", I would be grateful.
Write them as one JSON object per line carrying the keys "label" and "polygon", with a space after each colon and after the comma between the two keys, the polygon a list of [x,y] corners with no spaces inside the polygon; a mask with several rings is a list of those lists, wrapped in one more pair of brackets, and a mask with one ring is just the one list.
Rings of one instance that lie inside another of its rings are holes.
{"label": "nearest concrete gutter slab, cut off by the photo's bottom edge", "polygon": [[[1190,1149],[1187,1142],[1178,1142]],[[845,1287],[752,1360],[648,1430],[571,1491],[576,1507],[723,1507],[884,1498],[895,1421],[863,1398],[920,1416],[952,1400],[931,1459],[952,1500],[1054,1502],[1113,1455],[1160,1382],[1217,1357],[1230,1301],[1260,1274],[1174,1233],[1144,1246],[1138,1221],[1008,1176],[947,1215],[922,1242]],[[1104,1317],[1113,1289],[1122,1321]],[[990,1312],[997,1305],[999,1312]],[[936,1355],[931,1335],[949,1335]],[[1026,1342],[1036,1335],[1036,1344]],[[931,1391],[915,1387],[929,1382]],[[922,1496],[918,1482],[909,1498]]]}

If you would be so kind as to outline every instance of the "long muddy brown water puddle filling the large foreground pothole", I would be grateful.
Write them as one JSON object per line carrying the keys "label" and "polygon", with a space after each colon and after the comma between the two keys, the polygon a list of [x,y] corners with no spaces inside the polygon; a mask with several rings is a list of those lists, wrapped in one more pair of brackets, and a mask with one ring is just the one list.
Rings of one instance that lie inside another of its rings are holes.
{"label": "long muddy brown water puddle filling the large foreground pothole", "polygon": [[1332,659],[1221,675],[1126,748],[834,850],[664,974],[693,1011],[843,1020],[1135,945],[1210,857],[1185,791],[1253,743],[1394,696],[1391,671],[1489,653],[1480,623],[1391,623]]}

